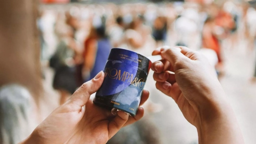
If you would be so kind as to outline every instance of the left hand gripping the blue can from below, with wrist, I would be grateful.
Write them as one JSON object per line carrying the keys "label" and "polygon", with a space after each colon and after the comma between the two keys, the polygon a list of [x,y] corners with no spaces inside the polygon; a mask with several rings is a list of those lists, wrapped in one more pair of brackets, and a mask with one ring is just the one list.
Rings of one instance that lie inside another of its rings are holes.
{"label": "left hand gripping the blue can from below, with wrist", "polygon": [[[105,144],[120,128],[142,118],[143,108],[129,117],[123,111],[116,116],[93,104],[90,95],[103,83],[101,71],[91,81],[84,83],[72,97],[55,109],[26,139],[24,144]],[[143,91],[140,106],[148,99]]]}

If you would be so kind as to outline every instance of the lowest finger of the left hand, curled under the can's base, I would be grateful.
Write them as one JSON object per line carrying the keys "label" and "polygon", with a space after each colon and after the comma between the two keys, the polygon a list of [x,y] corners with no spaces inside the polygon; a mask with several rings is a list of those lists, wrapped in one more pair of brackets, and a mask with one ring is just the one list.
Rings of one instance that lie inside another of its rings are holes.
{"label": "lowest finger of the left hand, curled under the can's base", "polygon": [[124,111],[117,111],[117,115],[108,124],[108,138],[113,137],[127,122],[129,116]]}

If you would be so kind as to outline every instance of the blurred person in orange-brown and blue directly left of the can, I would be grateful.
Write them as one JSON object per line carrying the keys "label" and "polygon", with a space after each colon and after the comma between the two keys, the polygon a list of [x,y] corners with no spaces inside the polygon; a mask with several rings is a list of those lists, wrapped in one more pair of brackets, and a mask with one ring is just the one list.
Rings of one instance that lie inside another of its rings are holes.
{"label": "blurred person in orange-brown and blue directly left of the can", "polygon": [[84,48],[82,75],[84,82],[87,82],[104,70],[112,48],[106,35],[105,23],[101,17],[94,17],[90,34],[84,42]]}

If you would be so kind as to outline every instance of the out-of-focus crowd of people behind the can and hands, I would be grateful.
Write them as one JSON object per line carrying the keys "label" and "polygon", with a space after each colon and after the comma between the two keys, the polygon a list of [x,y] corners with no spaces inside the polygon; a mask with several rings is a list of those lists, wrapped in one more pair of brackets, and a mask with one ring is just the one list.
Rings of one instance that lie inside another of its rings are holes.
{"label": "out-of-focus crowd of people behind the can and hands", "polygon": [[[60,104],[78,86],[92,79],[112,48],[128,49],[144,56],[163,45],[180,45],[204,54],[221,77],[221,43],[230,48],[247,39],[253,51],[256,10],[248,3],[130,3],[90,4],[40,8],[42,62],[55,70],[53,87]],[[256,72],[254,78],[255,81]]]}

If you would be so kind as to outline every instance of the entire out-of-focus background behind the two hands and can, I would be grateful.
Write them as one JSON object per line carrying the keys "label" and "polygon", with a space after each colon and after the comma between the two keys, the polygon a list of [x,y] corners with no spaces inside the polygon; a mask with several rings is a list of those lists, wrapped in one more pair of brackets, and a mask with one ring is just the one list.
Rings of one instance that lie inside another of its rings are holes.
{"label": "entire out-of-focus background behind the two hands and can", "polygon": [[[144,56],[163,45],[204,54],[246,144],[256,143],[256,0],[1,0],[0,143],[16,144],[82,83],[112,48]],[[197,130],[155,88],[145,117],[108,144],[198,144]]]}

